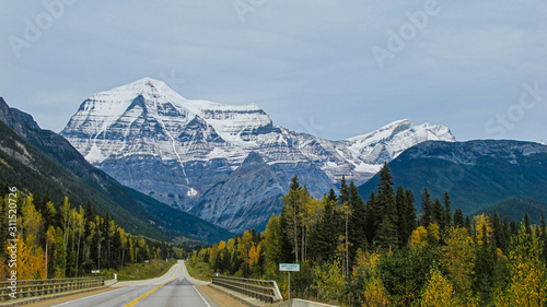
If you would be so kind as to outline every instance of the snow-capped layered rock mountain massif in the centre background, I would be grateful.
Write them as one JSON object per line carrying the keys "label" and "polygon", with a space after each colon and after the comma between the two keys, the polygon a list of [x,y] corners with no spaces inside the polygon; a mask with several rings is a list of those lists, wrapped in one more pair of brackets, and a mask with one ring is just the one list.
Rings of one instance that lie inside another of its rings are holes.
{"label": "snow-capped layered rock mountain massif in the centre background", "polygon": [[[207,208],[201,197],[217,184],[233,180],[231,174],[251,152],[287,186],[299,175],[312,193],[322,196],[342,175],[365,181],[384,162],[417,143],[454,141],[446,127],[412,126],[408,120],[329,141],[275,126],[255,104],[187,99],[150,78],[85,99],[61,135],[121,184],[183,210],[198,203]],[[249,191],[259,192],[253,187]]]}

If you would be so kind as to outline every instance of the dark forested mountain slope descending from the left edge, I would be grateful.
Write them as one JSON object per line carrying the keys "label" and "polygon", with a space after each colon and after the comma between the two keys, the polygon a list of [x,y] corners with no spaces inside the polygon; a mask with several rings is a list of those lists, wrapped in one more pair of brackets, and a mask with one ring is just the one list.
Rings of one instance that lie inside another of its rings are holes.
{"label": "dark forested mountain slope descending from the left edge", "polygon": [[43,130],[32,116],[0,97],[0,179],[20,190],[48,193],[59,205],[65,196],[78,206],[88,200],[108,212],[127,232],[155,239],[218,241],[232,234],[126,188],[89,164],[62,137]]}

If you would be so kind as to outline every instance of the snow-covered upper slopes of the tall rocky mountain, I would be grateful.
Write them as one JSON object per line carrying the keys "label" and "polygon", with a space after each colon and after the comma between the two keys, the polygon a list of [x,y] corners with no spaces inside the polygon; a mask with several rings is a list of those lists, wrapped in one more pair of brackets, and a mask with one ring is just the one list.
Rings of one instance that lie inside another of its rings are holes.
{"label": "snow-covered upper slopes of the tall rocky mountain", "polygon": [[225,158],[235,169],[255,151],[270,165],[311,162],[333,182],[342,174],[365,180],[420,142],[455,141],[444,126],[412,126],[407,119],[368,134],[324,140],[274,126],[255,104],[187,99],[150,78],[92,95],[61,134],[95,165],[107,158],[154,156],[178,161],[184,168],[187,162]]}

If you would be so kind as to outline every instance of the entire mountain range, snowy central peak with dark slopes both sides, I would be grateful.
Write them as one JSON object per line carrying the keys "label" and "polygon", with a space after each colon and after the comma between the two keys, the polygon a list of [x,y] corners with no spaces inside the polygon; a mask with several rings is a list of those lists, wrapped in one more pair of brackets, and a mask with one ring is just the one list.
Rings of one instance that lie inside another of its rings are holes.
{"label": "entire mountain range, snowy central peak with dark slopes both sides", "polygon": [[91,199],[129,232],[155,238],[261,231],[294,175],[316,197],[345,175],[366,199],[384,163],[417,200],[423,187],[433,197],[447,190],[465,213],[520,220],[547,203],[545,142],[456,142],[444,126],[408,120],[330,141],[275,126],[254,104],[186,99],[148,78],[85,99],[66,139],[3,99],[0,128],[2,178],[73,203]]}

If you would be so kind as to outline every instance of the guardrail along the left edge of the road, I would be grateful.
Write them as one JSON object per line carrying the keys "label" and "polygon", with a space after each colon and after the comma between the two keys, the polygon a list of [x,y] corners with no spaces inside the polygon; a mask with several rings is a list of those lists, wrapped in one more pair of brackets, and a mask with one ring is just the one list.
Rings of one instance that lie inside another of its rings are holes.
{"label": "guardrail along the left edge of the road", "polygon": [[0,282],[0,302],[13,299],[13,290],[16,290],[15,297],[33,297],[47,294],[55,294],[68,291],[100,287],[104,285],[104,278],[75,278],[55,280],[25,280],[18,281],[16,287],[11,286],[10,281]]}

